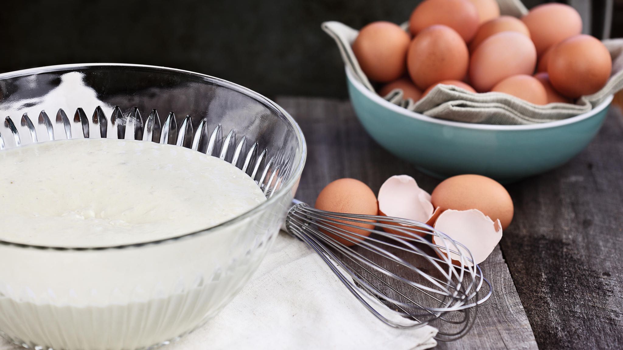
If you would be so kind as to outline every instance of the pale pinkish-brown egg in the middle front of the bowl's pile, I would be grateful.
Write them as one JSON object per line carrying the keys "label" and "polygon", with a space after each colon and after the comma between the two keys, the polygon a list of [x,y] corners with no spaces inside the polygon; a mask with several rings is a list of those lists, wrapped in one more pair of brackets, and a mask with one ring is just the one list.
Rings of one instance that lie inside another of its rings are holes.
{"label": "pale pinkish-brown egg in the middle front of the bowl's pile", "polygon": [[487,92],[511,75],[531,75],[535,65],[535,45],[526,35],[518,32],[493,34],[472,54],[470,82],[476,91]]}

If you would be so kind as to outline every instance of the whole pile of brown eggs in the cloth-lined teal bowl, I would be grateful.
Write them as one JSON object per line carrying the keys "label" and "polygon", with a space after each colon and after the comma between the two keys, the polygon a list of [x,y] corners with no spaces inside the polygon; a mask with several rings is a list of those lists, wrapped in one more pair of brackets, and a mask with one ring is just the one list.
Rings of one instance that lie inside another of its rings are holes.
{"label": "whole pile of brown eggs in the cloth-lined teal bowl", "polygon": [[565,4],[518,19],[500,16],[495,0],[425,0],[411,14],[411,34],[373,22],[353,52],[370,80],[385,83],[382,96],[400,88],[416,102],[441,83],[535,105],[573,103],[604,87],[612,70],[604,44],[581,31],[581,17]]}

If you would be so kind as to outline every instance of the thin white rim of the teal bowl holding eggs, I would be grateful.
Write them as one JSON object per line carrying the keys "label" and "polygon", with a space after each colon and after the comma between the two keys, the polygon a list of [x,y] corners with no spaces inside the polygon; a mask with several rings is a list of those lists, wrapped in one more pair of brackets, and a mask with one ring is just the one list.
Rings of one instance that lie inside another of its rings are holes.
{"label": "thin white rim of the teal bowl holding eggs", "polygon": [[369,98],[369,100],[375,102],[378,105],[381,105],[389,110],[395,111],[403,116],[407,116],[409,118],[414,118],[421,121],[426,121],[427,123],[435,123],[446,126],[454,126],[455,128],[465,128],[465,129],[478,129],[478,130],[492,130],[492,131],[501,131],[501,130],[536,130],[536,129],[545,129],[545,128],[556,128],[558,126],[568,125],[577,123],[578,121],[582,121],[591,116],[596,115],[600,111],[604,110],[607,106],[610,105],[614,95],[609,95],[606,97],[599,105],[592,108],[592,110],[587,111],[586,113],[582,113],[576,116],[572,116],[570,118],[566,118],[563,120],[556,121],[548,121],[546,123],[535,123],[528,125],[492,125],[492,124],[476,124],[476,123],[464,123],[462,121],[451,121],[451,120],[443,120],[438,118],[433,118],[432,116],[426,116],[421,113],[417,113],[414,111],[407,110],[406,108],[402,108],[401,106],[394,105],[394,103],[385,100],[383,97],[379,96],[377,93],[371,92],[366,87],[363,86],[359,80],[354,78],[353,72],[348,67],[345,67],[346,70],[346,78],[348,82],[353,84],[353,86],[363,95]]}

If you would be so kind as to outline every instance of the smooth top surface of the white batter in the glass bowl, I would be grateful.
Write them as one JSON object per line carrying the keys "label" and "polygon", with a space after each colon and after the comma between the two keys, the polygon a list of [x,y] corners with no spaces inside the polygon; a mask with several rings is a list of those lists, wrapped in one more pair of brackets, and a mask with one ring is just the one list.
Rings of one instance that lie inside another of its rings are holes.
{"label": "smooth top surface of the white batter in the glass bowl", "polygon": [[55,247],[149,242],[221,224],[266,199],[226,161],[145,141],[0,151],[0,239]]}

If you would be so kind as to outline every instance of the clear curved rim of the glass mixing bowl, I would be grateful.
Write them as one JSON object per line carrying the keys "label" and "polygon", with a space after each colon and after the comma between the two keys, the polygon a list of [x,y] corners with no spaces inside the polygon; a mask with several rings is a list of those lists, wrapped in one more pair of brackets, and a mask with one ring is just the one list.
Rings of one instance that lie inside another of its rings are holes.
{"label": "clear curved rim of the glass mixing bowl", "polygon": [[264,210],[265,208],[270,207],[273,203],[278,201],[278,199],[280,199],[281,197],[285,196],[286,193],[289,193],[290,191],[292,191],[292,187],[295,185],[295,183],[297,183],[299,181],[300,176],[303,173],[303,167],[305,166],[305,160],[307,159],[307,143],[305,143],[305,136],[303,135],[303,131],[301,130],[300,126],[298,126],[297,122],[294,120],[294,118],[292,118],[290,113],[285,111],[280,105],[277,105],[277,103],[273,102],[272,100],[270,100],[269,98],[265,97],[264,95],[261,95],[260,93],[254,92],[250,88],[243,87],[242,85],[239,85],[237,83],[232,83],[232,82],[229,82],[228,80],[224,80],[224,79],[221,79],[221,78],[213,77],[212,75],[207,75],[207,74],[202,74],[202,73],[197,73],[197,72],[191,72],[189,70],[175,69],[175,68],[169,68],[169,67],[162,67],[162,66],[157,66],[157,65],[118,64],[118,63],[87,63],[87,64],[49,65],[49,66],[45,66],[45,67],[36,67],[36,68],[31,68],[31,69],[22,69],[22,70],[16,70],[16,71],[13,71],[13,72],[0,73],[0,80],[5,80],[7,78],[24,77],[24,76],[27,76],[27,75],[34,75],[34,74],[39,74],[39,73],[56,72],[56,71],[59,71],[59,70],[67,70],[67,69],[69,69],[69,70],[79,70],[79,69],[90,69],[90,68],[97,68],[97,67],[128,67],[128,68],[136,67],[136,68],[140,68],[140,69],[158,70],[158,71],[164,71],[164,72],[178,72],[178,73],[184,73],[184,74],[187,74],[187,75],[194,75],[195,77],[200,77],[200,78],[204,78],[204,79],[210,80],[212,82],[216,82],[217,85],[221,85],[221,86],[224,86],[224,87],[231,88],[232,90],[235,90],[238,93],[242,93],[242,95],[245,95],[247,97],[253,98],[254,100],[256,100],[258,102],[264,103],[265,105],[268,105],[268,106],[272,107],[278,113],[282,114],[282,116],[285,118],[285,122],[288,123],[293,128],[293,130],[295,132],[295,137],[297,138],[297,143],[298,143],[298,148],[299,149],[297,151],[296,156],[298,158],[298,161],[294,164],[294,168],[293,168],[294,171],[292,172],[292,175],[290,176],[290,179],[288,179],[288,181],[285,182],[284,186],[281,187],[275,193],[274,196],[270,197],[269,199],[267,199],[267,201],[263,202],[259,206],[253,207],[252,209],[247,210],[246,212],[244,212],[244,213],[242,213],[240,215],[237,215],[236,217],[234,217],[232,219],[229,219],[229,220],[227,220],[225,222],[222,222],[221,224],[218,224],[216,226],[211,226],[211,227],[208,227],[207,229],[202,229],[202,230],[197,230],[197,231],[194,231],[194,232],[189,232],[187,234],[176,235],[174,237],[169,237],[169,238],[166,238],[166,239],[151,240],[151,241],[148,241],[148,242],[139,242],[139,243],[133,243],[133,244],[102,246],[102,247],[56,247],[56,246],[46,246],[46,245],[22,244],[22,243],[10,242],[10,241],[7,241],[7,240],[0,239],[0,245],[17,247],[17,248],[32,248],[32,249],[37,249],[37,250],[93,251],[93,250],[113,250],[113,249],[114,250],[119,250],[119,249],[125,249],[125,248],[139,248],[139,247],[145,247],[145,246],[148,246],[148,245],[163,244],[165,242],[173,242],[173,241],[176,241],[176,240],[188,239],[189,237],[195,237],[195,236],[198,236],[198,235],[209,234],[211,232],[215,232],[217,230],[221,230],[221,229],[223,229],[225,227],[229,227],[231,225],[236,224],[237,222],[240,222],[240,221],[242,221],[244,219],[247,219],[248,217],[251,217],[252,215],[256,214],[257,212],[260,212],[260,211]]}

